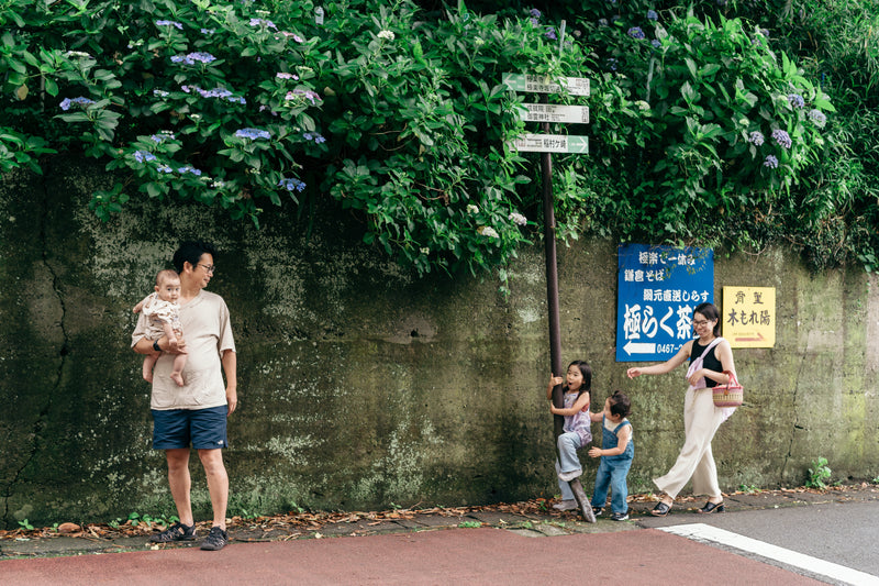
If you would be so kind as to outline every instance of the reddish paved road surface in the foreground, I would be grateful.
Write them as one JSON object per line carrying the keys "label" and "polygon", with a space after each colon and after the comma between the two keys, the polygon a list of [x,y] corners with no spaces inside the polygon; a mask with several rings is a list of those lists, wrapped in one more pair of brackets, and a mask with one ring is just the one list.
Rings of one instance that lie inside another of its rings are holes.
{"label": "reddish paved road surface in the foreground", "polygon": [[449,529],[0,562],[0,582],[64,584],[649,584],[819,582],[654,529],[526,538]]}

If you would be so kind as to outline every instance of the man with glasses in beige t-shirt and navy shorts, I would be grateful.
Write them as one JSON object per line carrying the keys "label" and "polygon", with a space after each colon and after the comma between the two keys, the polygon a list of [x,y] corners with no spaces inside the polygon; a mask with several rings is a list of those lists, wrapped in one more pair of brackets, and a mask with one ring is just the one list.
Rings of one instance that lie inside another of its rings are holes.
{"label": "man with glasses in beige t-shirt and navy shorts", "polygon": [[[174,266],[180,275],[179,316],[189,360],[183,369],[182,387],[171,382],[173,352],[167,338],[147,340],[143,313],[132,334],[132,347],[141,354],[162,352],[155,366],[151,409],[153,447],[165,450],[168,484],[179,521],[153,535],[154,543],[191,541],[196,523],[190,500],[189,451],[198,451],[204,467],[213,508],[213,523],[202,550],[216,551],[229,542],[226,505],[229,476],[223,464],[226,446],[226,418],[237,406],[235,342],[232,338],[229,308],[219,295],[204,287],[216,267],[216,248],[204,242],[183,242],[174,253]],[[225,383],[223,382],[225,373]]]}

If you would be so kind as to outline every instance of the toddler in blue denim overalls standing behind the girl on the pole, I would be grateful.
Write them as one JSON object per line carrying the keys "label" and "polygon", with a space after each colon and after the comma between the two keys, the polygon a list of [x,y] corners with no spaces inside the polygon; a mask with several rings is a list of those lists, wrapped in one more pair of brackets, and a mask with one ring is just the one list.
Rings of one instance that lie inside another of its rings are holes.
{"label": "toddler in blue denim overalls standing behind the girl on the pole", "polygon": [[601,447],[592,447],[589,455],[601,457],[596,473],[596,490],[592,493],[592,510],[601,515],[608,501],[608,489],[611,491],[611,519],[625,521],[628,519],[628,487],[625,478],[632,467],[635,444],[632,441],[632,423],[626,419],[632,410],[632,401],[619,390],[604,401],[604,410],[590,413],[592,421],[602,421]]}

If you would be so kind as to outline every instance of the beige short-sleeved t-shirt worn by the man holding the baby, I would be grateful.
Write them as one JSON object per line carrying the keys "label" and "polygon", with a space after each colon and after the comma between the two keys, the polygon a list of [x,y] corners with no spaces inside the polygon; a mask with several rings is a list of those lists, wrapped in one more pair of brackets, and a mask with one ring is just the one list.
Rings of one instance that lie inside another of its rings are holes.
{"label": "beige short-sleeved t-shirt worn by the man holding the baby", "polygon": [[[153,371],[153,397],[149,407],[157,410],[208,409],[226,405],[221,356],[226,350],[235,352],[229,308],[223,298],[205,290],[178,309],[183,324],[186,349],[189,352],[183,380],[178,387],[171,380],[174,354],[162,353]],[[146,320],[141,313],[131,345],[144,338]]]}

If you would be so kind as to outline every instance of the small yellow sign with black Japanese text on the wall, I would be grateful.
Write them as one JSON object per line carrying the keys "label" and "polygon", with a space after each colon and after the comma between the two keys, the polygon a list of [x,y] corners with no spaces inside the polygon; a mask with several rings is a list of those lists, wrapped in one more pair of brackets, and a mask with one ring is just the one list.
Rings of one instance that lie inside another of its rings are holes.
{"label": "small yellow sign with black Japanese text on the wall", "polygon": [[776,288],[724,287],[723,336],[733,347],[776,345]]}

